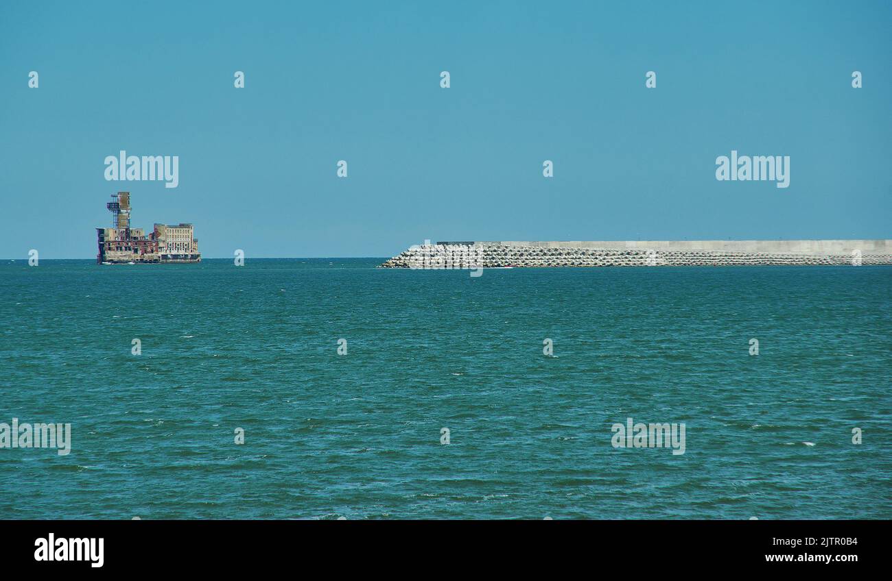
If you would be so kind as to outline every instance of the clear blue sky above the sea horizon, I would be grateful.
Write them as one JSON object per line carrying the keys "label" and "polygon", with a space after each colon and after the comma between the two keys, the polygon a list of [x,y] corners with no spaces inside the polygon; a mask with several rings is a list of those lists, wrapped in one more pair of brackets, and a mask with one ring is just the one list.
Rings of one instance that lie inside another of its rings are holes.
{"label": "clear blue sky above the sea horizon", "polygon": [[[0,258],[95,258],[118,191],[205,258],[892,238],[889,30],[871,1],[3,2]],[[178,187],[107,181],[121,150]],[[732,150],[789,187],[716,180]]]}

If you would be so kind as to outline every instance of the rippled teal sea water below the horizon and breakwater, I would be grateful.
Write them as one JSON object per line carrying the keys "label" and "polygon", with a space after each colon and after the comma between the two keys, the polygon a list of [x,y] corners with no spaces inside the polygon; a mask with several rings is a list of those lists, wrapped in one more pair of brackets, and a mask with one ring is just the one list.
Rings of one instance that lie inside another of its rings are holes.
{"label": "rippled teal sea water below the horizon and breakwater", "polygon": [[4,262],[0,518],[892,518],[892,268],[381,260]]}

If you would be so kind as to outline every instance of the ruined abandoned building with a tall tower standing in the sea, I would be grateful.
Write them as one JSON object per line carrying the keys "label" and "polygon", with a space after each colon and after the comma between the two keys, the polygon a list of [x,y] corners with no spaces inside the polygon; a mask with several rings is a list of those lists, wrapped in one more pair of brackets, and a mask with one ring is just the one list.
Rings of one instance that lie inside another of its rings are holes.
{"label": "ruined abandoned building with a tall tower standing in the sea", "polygon": [[111,228],[96,228],[100,264],[201,262],[198,240],[191,224],[155,224],[145,234],[142,228],[130,227],[130,192],[111,194],[105,204],[111,211]]}

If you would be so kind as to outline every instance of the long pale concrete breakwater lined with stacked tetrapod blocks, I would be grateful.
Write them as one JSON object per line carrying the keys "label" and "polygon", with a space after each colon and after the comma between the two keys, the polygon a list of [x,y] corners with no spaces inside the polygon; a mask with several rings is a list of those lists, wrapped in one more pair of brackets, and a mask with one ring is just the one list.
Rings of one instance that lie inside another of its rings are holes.
{"label": "long pale concrete breakwater lined with stacked tetrapod blocks", "polygon": [[892,240],[438,241],[384,268],[892,265]]}

